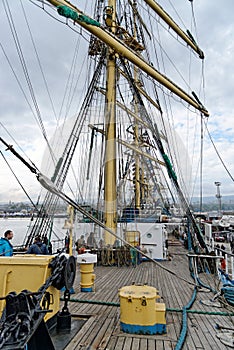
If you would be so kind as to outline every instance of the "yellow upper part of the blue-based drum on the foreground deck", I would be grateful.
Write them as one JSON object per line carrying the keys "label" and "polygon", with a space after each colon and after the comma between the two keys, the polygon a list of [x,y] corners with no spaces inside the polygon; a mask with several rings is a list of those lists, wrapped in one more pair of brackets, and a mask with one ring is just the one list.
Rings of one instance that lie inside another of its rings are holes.
{"label": "yellow upper part of the blue-based drum on the foreground deck", "polygon": [[164,303],[157,289],[150,286],[125,286],[119,291],[120,321],[129,325],[153,326],[166,324]]}

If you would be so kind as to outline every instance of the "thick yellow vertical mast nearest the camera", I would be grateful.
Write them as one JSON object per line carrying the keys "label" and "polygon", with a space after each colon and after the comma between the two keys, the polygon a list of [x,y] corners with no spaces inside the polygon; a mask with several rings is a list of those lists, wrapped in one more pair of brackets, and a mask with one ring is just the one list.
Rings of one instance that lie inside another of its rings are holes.
{"label": "thick yellow vertical mast nearest the camera", "polygon": [[[106,25],[115,33],[116,1],[109,0],[106,8]],[[106,105],[105,105],[105,176],[104,176],[104,222],[116,232],[117,184],[116,184],[116,57],[111,47],[107,50]],[[115,237],[105,231],[104,241],[112,246]]]}

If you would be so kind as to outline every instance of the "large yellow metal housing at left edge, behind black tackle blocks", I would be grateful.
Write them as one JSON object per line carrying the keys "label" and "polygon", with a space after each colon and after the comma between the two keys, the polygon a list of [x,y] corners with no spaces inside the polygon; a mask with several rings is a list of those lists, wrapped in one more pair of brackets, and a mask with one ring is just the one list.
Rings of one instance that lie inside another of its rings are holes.
{"label": "large yellow metal housing at left edge, behind black tackle blocks", "polygon": [[[52,255],[15,255],[13,257],[0,257],[0,296],[4,297],[10,292],[20,293],[22,290],[37,292],[50,276],[49,262]],[[60,291],[49,287],[48,292],[53,294],[53,304],[47,313],[45,321],[59,311]],[[5,301],[0,300],[0,314],[5,307]]]}

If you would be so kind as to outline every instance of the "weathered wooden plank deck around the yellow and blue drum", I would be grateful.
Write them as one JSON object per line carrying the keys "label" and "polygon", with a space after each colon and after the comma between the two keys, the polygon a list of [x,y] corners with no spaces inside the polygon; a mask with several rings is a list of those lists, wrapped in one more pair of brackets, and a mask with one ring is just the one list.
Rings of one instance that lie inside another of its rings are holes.
{"label": "weathered wooden plank deck around the yellow and blue drum", "polygon": [[[164,267],[174,271],[173,275],[159,267],[153,262],[143,262],[134,267],[105,267],[96,266],[95,292],[80,292],[80,273],[74,285],[75,294],[71,299],[79,302],[70,302],[69,311],[73,319],[85,319],[85,324],[66,346],[66,350],[169,350],[174,349],[180,336],[182,325],[182,313],[170,311],[170,309],[181,310],[190,301],[194,287],[181,280],[178,276],[193,282],[188,269],[188,258],[186,250],[182,245],[170,245],[169,252],[171,261],[160,262]],[[213,275],[201,274],[201,280],[207,284],[213,282]],[[147,283],[156,287],[159,295],[163,297],[167,311],[167,333],[165,335],[133,335],[120,331],[120,308],[115,305],[105,305],[102,302],[119,303],[118,290],[125,286]],[[188,313],[187,336],[183,349],[230,349],[225,346],[216,336],[216,323],[233,327],[231,316],[223,316],[221,313],[227,309],[205,306],[200,301],[211,299],[212,292],[205,289],[197,293],[197,298],[191,310],[204,311],[204,314]],[[91,304],[83,301],[100,301],[99,304]],[[230,312],[230,309],[229,309]],[[213,313],[213,314],[210,314]],[[220,314],[214,314],[220,313]]]}

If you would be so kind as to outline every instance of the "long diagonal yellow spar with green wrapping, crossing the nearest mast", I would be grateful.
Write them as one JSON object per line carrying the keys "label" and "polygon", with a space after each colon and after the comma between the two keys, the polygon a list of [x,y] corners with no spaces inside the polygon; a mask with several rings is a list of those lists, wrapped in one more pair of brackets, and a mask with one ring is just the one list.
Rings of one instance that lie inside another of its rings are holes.
{"label": "long diagonal yellow spar with green wrapping, crossing the nearest mast", "polygon": [[[185,92],[183,89],[181,89],[171,80],[169,80],[166,76],[159,73],[141,56],[137,55],[133,50],[131,50],[123,41],[115,37],[111,32],[107,31],[105,28],[101,27],[101,25],[98,22],[90,22],[91,18],[86,16],[80,10],[78,10],[77,7],[65,0],[48,0],[48,2],[56,6],[59,9],[61,15],[71,18],[74,22],[77,22],[80,26],[84,27],[87,31],[89,31],[101,41],[106,43],[115,51],[116,54],[125,57],[127,60],[139,67],[145,73],[149,74],[149,76],[151,76],[153,79],[165,86],[171,92],[179,96],[182,100],[186,101],[191,106],[201,111],[201,113],[203,113],[205,116],[209,116],[208,111],[204,108],[204,106],[198,101],[196,97],[189,95],[187,92]],[[65,6],[66,9],[69,9],[70,13],[68,14],[66,11],[65,14],[64,11],[61,11],[62,6]]]}

